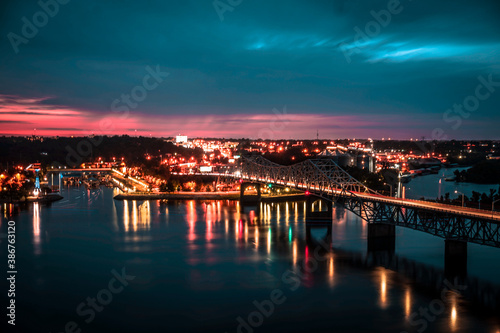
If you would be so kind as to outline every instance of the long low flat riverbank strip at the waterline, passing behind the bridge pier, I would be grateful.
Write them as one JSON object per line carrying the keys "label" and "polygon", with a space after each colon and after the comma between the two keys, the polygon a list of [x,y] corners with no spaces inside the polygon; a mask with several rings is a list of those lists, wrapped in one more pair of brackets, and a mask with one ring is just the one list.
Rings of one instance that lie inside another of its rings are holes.
{"label": "long low flat riverbank strip at the waterline, passing behind the bridge pier", "polygon": [[[113,197],[115,200],[239,200],[240,192],[176,192],[176,193],[122,193]],[[263,202],[300,201],[304,194],[289,194],[261,197]]]}

